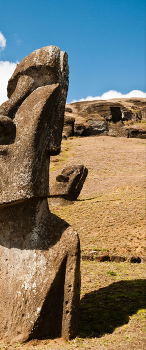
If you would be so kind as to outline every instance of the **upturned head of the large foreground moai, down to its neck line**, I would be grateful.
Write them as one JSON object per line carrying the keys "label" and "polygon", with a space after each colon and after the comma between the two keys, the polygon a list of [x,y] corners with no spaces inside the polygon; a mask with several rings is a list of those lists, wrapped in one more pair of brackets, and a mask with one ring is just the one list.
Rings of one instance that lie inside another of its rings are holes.
{"label": "upturned head of the large foreground moai, down to its neck line", "polygon": [[42,47],[17,64],[0,106],[0,204],[49,195],[68,89],[66,52]]}

